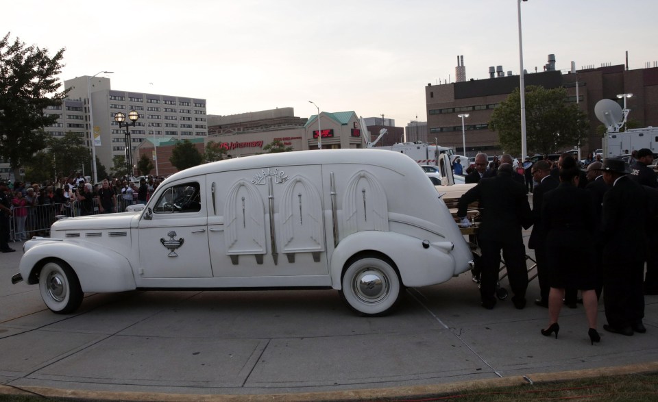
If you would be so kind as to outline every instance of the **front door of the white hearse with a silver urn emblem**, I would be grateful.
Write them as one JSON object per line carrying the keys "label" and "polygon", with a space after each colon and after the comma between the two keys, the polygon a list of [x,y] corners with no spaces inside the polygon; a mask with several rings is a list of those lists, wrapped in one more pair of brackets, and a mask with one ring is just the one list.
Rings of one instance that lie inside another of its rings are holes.
{"label": "front door of the white hearse with a silver urn emblem", "polygon": [[205,188],[204,176],[184,179],[167,184],[149,203],[138,228],[141,278],[212,276]]}

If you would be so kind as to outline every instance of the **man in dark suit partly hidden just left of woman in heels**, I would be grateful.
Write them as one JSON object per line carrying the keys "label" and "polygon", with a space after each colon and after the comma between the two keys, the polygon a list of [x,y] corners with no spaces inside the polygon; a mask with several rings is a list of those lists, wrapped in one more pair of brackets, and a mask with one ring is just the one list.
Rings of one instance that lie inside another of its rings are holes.
{"label": "man in dark suit partly hidden just left of woman in heels", "polygon": [[546,229],[541,223],[541,203],[544,201],[544,194],[557,188],[560,184],[555,177],[550,175],[550,164],[545,160],[539,160],[533,165],[533,177],[537,180],[537,186],[533,190],[533,231],[528,240],[528,249],[535,250],[535,260],[537,260],[537,280],[539,281],[539,299],[535,300],[536,305],[548,308],[548,292],[550,284],[548,282],[548,264],[546,262]]}

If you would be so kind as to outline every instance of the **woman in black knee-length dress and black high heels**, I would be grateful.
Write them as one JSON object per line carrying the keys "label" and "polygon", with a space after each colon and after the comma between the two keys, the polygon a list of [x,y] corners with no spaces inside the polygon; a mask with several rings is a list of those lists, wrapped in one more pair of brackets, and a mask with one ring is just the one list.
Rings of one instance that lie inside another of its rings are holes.
{"label": "woman in black knee-length dress and black high heels", "polygon": [[588,336],[600,341],[596,331],[597,300],[594,266],[594,233],[596,215],[594,201],[578,188],[580,172],[573,157],[567,156],[560,169],[560,185],[544,194],[541,218],[547,231],[546,255],[550,292],[548,294],[549,326],[541,334],[550,336],[560,330],[557,323],[565,288],[579,289],[583,294]]}

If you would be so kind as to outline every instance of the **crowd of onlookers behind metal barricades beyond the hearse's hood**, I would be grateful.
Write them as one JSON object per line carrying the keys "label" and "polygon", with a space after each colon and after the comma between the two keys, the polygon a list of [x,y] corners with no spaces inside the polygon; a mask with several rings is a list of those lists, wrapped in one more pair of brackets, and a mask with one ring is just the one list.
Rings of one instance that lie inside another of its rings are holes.
{"label": "crowd of onlookers behind metal barricades beyond the hearse's hood", "polygon": [[145,204],[161,181],[149,176],[134,183],[121,177],[93,186],[82,173],[41,183],[0,181],[0,251],[14,251],[9,247],[12,238],[46,236],[56,216],[123,212],[128,205]]}

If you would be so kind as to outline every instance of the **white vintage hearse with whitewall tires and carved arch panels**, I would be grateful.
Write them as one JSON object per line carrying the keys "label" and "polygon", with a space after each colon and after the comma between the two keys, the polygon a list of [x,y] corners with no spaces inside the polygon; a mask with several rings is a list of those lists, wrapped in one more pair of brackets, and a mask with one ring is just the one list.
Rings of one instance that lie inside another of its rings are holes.
{"label": "white vintage hearse with whitewall tires and carved arch panels", "polygon": [[404,286],[468,271],[472,253],[422,169],[392,151],[256,155],[164,180],[140,212],[65,218],[20,273],[56,313],[84,292],[334,288],[382,315]]}

